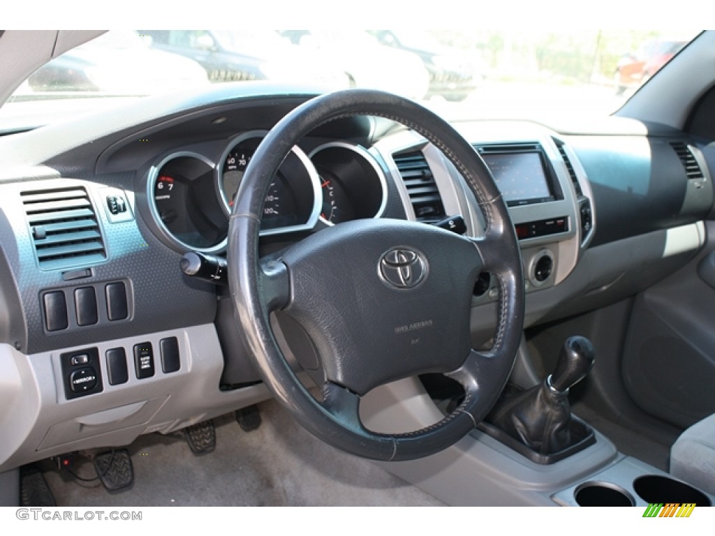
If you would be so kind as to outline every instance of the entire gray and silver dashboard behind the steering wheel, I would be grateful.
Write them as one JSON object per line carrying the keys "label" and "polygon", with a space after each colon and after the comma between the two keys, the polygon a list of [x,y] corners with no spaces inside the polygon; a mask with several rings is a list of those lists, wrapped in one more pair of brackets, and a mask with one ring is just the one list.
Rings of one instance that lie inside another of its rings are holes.
{"label": "entire gray and silver dashboard behind the steering wheel", "polygon": [[[269,396],[227,289],[184,273],[182,259],[231,262],[230,212],[245,169],[271,127],[310,96],[225,84],[0,140],[0,423],[11,430],[0,470],[172,432]],[[704,243],[709,167],[678,131],[454,126],[509,207],[527,325],[637,292]],[[458,216],[467,234],[483,234],[478,202],[436,147],[388,119],[338,119],[293,147],[267,188],[261,254],[280,256],[350,220]],[[647,247],[634,252],[634,240]],[[493,337],[497,300],[480,274],[475,347]],[[292,362],[317,368],[300,327],[279,319],[275,329]]]}

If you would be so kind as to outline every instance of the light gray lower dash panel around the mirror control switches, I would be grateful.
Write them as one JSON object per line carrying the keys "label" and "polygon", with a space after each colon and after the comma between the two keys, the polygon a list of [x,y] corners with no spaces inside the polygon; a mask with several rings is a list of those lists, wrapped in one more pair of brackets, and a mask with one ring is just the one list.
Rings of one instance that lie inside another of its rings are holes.
{"label": "light gray lower dash panel around the mirror control switches", "polygon": [[[181,368],[164,374],[159,341],[177,337]],[[134,344],[151,342],[153,377],[137,379]],[[104,390],[67,400],[59,356],[96,347]],[[109,385],[104,354],[124,347],[129,379]],[[142,334],[26,355],[0,344],[0,471],[64,452],[128,445],[149,432],[168,433],[269,398],[257,384],[221,391],[223,355],[213,324]]]}

